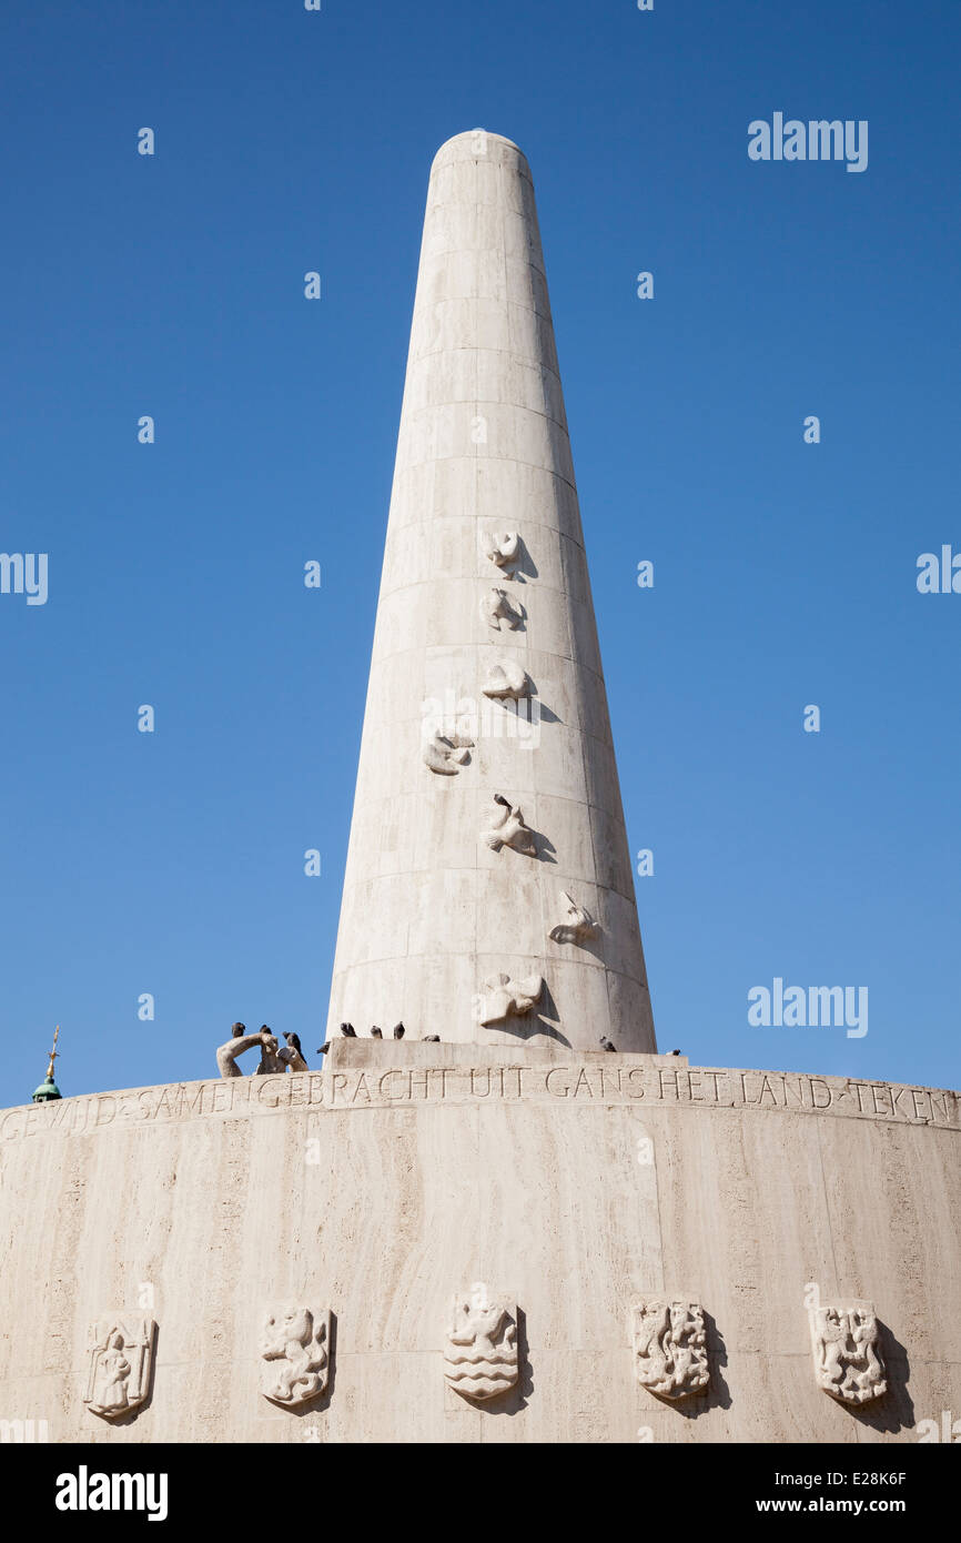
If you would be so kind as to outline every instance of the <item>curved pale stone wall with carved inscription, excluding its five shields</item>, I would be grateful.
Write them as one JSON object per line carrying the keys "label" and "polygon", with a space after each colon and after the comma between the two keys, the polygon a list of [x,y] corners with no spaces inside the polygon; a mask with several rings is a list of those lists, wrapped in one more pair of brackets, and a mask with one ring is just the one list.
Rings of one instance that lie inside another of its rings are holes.
{"label": "curved pale stone wall with carved inscription, excluding its five shields", "polygon": [[[552,1046],[335,1043],[324,1072],[0,1113],[0,1420],[51,1441],[916,1441],[961,1418],[952,1092]],[[517,1304],[518,1381],[444,1379],[450,1301]],[[711,1383],[642,1387],[632,1305],[702,1304]],[[887,1393],[814,1379],[807,1304],[875,1305]],[[262,1393],[275,1302],[329,1386]],[[147,1400],[85,1404],[91,1324],[156,1319]],[[14,1429],[5,1427],[8,1435]],[[961,1429],[961,1427],[959,1427]]]}

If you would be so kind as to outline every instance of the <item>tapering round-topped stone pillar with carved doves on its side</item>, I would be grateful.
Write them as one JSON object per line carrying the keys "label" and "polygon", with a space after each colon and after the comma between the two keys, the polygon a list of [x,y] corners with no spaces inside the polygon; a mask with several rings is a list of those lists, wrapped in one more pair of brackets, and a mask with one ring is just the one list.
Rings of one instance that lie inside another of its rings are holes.
{"label": "tapering round-topped stone pillar with carved doves on its side", "polygon": [[438,151],[329,1034],[656,1051],[534,185]]}

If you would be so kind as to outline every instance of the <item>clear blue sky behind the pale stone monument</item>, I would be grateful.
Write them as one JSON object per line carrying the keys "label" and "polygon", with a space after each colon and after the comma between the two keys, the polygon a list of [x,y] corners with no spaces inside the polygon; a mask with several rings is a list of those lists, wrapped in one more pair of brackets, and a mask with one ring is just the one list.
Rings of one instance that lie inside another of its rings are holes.
{"label": "clear blue sky behind the pale stone monument", "polygon": [[[49,554],[46,605],[0,594],[0,1105],[57,1021],[65,1092],[216,1075],[234,1018],[315,1058],[427,171],[477,125],[535,177],[660,1045],[956,1086],[961,594],[915,580],[961,551],[958,6],[0,35],[0,549]],[[868,168],[751,162],[774,111],[867,119]],[[774,977],[867,986],[867,1035],[750,1026]]]}

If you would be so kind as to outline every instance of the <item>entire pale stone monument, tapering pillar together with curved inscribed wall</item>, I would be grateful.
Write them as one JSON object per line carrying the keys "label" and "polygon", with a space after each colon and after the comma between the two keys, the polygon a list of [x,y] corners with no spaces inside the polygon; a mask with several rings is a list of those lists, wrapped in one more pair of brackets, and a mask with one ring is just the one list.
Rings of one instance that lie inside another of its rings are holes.
{"label": "entire pale stone monument, tapering pillar together with curved inscribed wall", "polygon": [[3,1429],[654,1475],[961,1433],[958,1096],[656,1054],[531,174],[481,131],[430,176],[329,1034],[0,1111]]}

